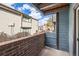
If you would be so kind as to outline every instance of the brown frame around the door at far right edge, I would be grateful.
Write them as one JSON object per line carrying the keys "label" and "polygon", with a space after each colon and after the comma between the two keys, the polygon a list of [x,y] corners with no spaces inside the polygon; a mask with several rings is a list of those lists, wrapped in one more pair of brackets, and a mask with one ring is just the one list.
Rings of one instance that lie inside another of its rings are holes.
{"label": "brown frame around the door at far right edge", "polygon": [[77,28],[76,28],[76,26],[77,26],[77,18],[76,18],[76,16],[77,16],[77,13],[76,13],[76,10],[77,10],[77,8],[79,7],[79,4],[76,4],[75,6],[74,6],[74,8],[73,8],[73,10],[74,10],[74,34],[73,34],[73,55],[74,56],[76,56],[77,55],[77,38],[76,38],[76,31],[77,31]]}

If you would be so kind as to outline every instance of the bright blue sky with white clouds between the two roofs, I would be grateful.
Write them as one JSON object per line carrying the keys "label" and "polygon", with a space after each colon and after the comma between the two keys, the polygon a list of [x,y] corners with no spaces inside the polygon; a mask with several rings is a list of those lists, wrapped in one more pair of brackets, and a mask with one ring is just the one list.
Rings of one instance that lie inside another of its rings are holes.
{"label": "bright blue sky with white clouds between the two roofs", "polygon": [[27,14],[35,19],[38,19],[38,23],[40,26],[44,25],[44,23],[46,23],[50,16],[52,16],[51,14],[44,16],[41,12],[36,10],[31,3],[9,3],[5,5],[15,10],[18,10],[24,14]]}

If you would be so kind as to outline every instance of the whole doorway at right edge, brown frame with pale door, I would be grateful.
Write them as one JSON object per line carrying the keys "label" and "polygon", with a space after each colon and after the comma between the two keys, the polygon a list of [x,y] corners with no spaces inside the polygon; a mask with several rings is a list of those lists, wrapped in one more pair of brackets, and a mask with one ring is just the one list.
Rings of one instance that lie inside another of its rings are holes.
{"label": "whole doorway at right edge, brown frame with pale door", "polygon": [[79,56],[79,4],[74,6],[73,55]]}

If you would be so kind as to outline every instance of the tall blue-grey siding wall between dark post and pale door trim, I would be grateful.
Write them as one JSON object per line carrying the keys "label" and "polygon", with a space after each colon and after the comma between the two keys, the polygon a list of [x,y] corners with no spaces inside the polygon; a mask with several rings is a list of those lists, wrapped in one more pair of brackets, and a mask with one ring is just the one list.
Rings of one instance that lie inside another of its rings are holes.
{"label": "tall blue-grey siding wall between dark post and pale door trim", "polygon": [[69,51],[69,8],[59,11],[59,49]]}

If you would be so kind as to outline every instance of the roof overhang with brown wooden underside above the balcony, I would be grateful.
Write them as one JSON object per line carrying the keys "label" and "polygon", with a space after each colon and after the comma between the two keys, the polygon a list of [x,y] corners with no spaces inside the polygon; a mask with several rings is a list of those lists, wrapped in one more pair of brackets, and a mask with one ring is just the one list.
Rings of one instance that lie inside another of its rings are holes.
{"label": "roof overhang with brown wooden underside above the balcony", "polygon": [[33,3],[44,14],[55,13],[69,6],[68,3]]}

